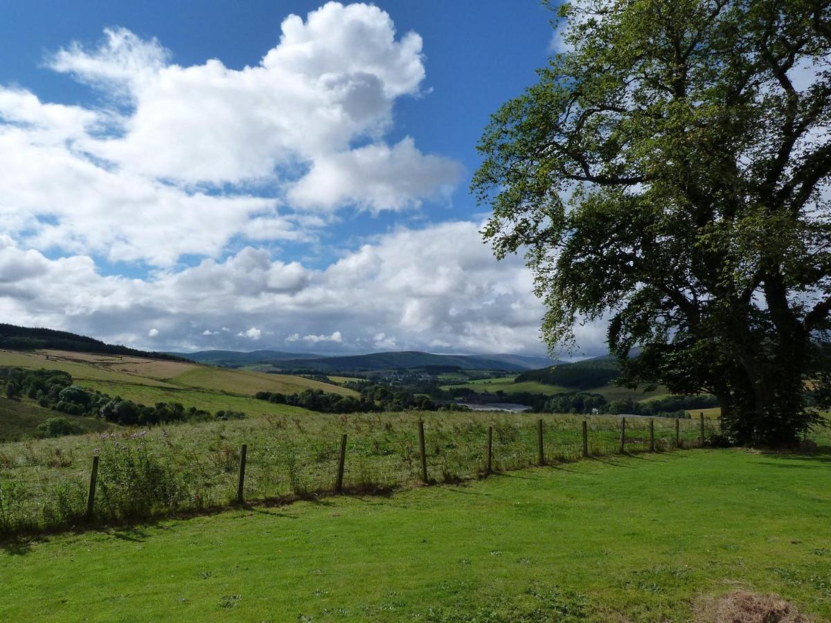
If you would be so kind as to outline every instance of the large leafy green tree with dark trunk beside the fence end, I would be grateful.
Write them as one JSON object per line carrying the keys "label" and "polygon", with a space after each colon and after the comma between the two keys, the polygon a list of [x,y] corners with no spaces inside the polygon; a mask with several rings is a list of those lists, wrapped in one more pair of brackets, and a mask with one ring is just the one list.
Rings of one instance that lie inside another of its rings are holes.
{"label": "large leafy green tree with dark trunk beside the fence end", "polygon": [[605,318],[627,383],[793,443],[831,395],[831,3],[586,0],[556,24],[565,52],[479,144],[484,237],[527,253],[549,346]]}

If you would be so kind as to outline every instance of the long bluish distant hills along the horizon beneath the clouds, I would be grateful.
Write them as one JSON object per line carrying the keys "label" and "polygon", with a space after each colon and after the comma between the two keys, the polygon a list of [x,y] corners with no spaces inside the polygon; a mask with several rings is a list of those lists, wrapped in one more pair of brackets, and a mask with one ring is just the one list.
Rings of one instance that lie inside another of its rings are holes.
{"label": "long bluish distant hills along the horizon beneath the clouds", "polygon": [[319,372],[358,370],[410,370],[425,365],[455,366],[465,370],[504,370],[519,372],[553,363],[545,357],[510,354],[436,355],[422,351],[389,351],[366,355],[319,356],[283,351],[199,351],[174,353],[199,363],[214,365],[272,364],[283,369],[307,369]]}

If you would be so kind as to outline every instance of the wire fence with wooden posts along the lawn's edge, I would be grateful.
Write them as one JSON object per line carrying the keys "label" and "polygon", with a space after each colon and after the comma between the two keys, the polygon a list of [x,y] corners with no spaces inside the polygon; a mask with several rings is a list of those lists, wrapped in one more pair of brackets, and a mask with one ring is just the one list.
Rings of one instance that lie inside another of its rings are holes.
{"label": "wire fence with wooden posts along the lawn's edge", "polygon": [[[503,419],[359,429],[184,451],[143,441],[102,445],[91,468],[0,468],[0,535],[116,523],[329,493],[380,492],[610,454],[709,444],[704,419]],[[54,467],[54,466],[52,466]],[[23,473],[14,473],[23,472]],[[56,475],[57,474],[57,475]]]}

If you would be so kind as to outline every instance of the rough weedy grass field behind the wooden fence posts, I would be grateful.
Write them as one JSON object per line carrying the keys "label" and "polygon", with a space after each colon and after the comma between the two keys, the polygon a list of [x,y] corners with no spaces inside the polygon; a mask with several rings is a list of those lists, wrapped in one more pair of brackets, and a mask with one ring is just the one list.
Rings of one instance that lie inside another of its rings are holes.
{"label": "rough weedy grass field behind the wooden fence posts", "polygon": [[[101,456],[96,518],[131,521],[172,512],[227,505],[236,496],[238,449],[248,444],[245,496],[263,500],[332,492],[341,436],[346,433],[344,487],[401,488],[420,479],[416,424],[425,422],[428,476],[435,482],[475,478],[487,464],[487,429],[494,427],[493,467],[538,462],[538,418],[544,457],[577,459],[583,417],[496,413],[275,416],[149,431],[121,429],[0,446],[0,533],[66,527],[86,509],[91,456]],[[698,423],[656,419],[656,448],[698,444]],[[588,418],[591,454],[614,454],[620,420]],[[627,420],[627,451],[648,449],[648,420]],[[715,432],[708,423],[707,437]]]}

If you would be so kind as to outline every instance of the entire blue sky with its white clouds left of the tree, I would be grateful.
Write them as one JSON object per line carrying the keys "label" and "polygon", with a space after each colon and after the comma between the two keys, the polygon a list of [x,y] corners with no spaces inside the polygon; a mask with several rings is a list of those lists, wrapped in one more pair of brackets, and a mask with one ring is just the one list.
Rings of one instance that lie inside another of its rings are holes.
{"label": "entire blue sky with its white clouds left of the tree", "polygon": [[322,5],[8,4],[4,316],[171,350],[541,353],[468,187],[553,13]]}

